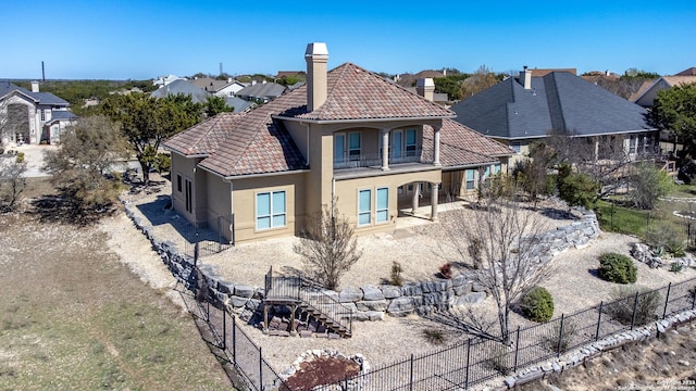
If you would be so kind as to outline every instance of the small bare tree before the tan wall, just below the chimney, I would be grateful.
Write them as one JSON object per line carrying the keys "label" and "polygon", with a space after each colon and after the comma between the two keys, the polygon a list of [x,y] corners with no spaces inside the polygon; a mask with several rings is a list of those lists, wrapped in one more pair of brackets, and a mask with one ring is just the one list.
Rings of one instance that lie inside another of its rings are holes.
{"label": "small bare tree before the tan wall, just below the chimney", "polygon": [[353,236],[353,227],[335,206],[324,205],[307,220],[307,231],[294,250],[302,256],[304,269],[327,289],[336,289],[340,276],[352,266],[362,252]]}

